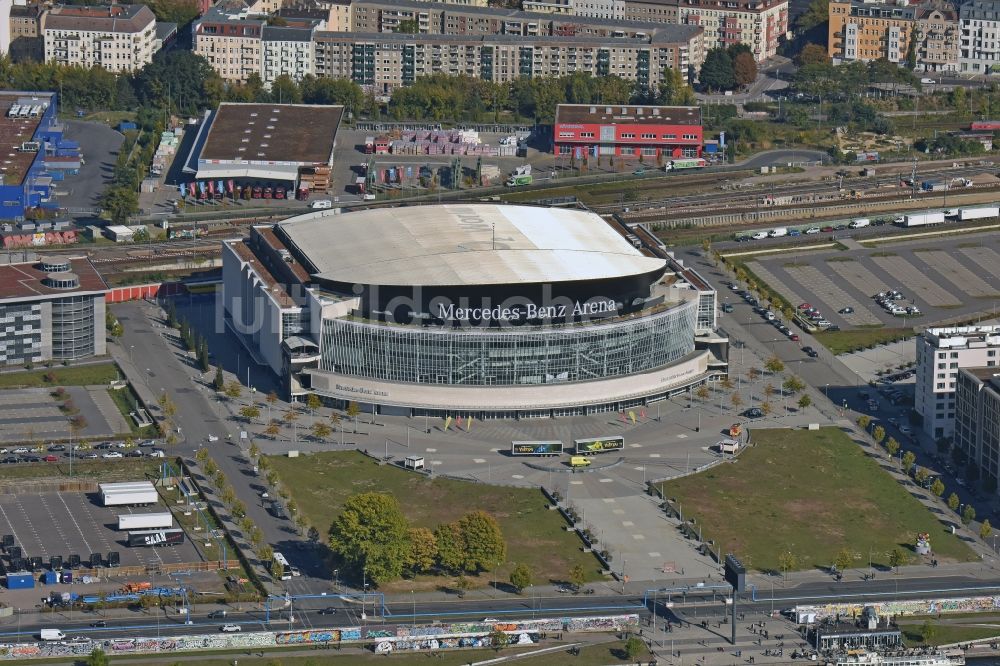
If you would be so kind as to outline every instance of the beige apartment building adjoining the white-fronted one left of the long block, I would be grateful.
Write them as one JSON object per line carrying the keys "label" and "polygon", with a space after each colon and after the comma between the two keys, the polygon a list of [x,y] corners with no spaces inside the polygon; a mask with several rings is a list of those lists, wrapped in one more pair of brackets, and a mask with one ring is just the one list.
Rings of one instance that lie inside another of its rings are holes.
{"label": "beige apartment building adjoining the white-fronted one left of the long block", "polygon": [[219,76],[239,83],[261,75],[262,36],[266,21],[247,11],[208,10],[191,24],[192,50],[205,58]]}

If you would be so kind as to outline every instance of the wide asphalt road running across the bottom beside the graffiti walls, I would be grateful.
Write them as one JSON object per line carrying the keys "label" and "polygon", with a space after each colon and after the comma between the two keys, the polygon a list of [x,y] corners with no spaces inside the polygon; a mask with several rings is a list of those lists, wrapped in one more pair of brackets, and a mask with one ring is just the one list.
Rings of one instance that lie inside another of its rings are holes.
{"label": "wide asphalt road running across the bottom beside the graffiti walls", "polygon": [[[748,591],[740,597],[739,606],[743,612],[769,613],[772,610],[810,603],[824,603],[832,599],[839,602],[859,602],[891,599],[906,599],[914,597],[962,597],[970,594],[995,594],[1000,591],[1000,584],[994,581],[981,581],[958,576],[902,578],[891,573],[881,573],[881,577],[870,582],[814,582],[794,588],[782,588],[780,579],[775,579],[775,587]],[[724,596],[718,592],[692,588],[683,593],[677,590],[659,588],[656,591],[657,602],[672,604],[667,608],[657,603],[657,614],[660,617],[672,619],[688,619],[704,617],[705,609],[722,610]],[[302,629],[309,627],[364,626],[377,628],[382,625],[405,624],[415,621],[418,624],[428,624],[437,621],[482,621],[487,617],[498,620],[529,619],[532,617],[594,615],[608,613],[638,612],[649,615],[653,607],[653,589],[637,590],[626,595],[619,594],[562,594],[537,596],[525,593],[520,597],[505,596],[501,599],[454,599],[449,601],[410,601],[401,600],[388,603],[385,615],[373,611],[371,602],[364,607],[366,620],[361,620],[360,602],[340,597],[327,597],[308,601],[296,601],[292,608],[294,621],[289,623],[288,610],[285,608],[272,610],[270,622],[261,609],[238,611],[228,609],[225,618],[209,618],[209,613],[221,606],[199,604],[190,615],[191,624],[185,624],[187,615],[178,613],[176,609],[163,611],[120,611],[111,610],[98,613],[45,612],[34,616],[21,618],[18,627],[7,624],[6,631],[0,636],[6,639],[21,636],[28,638],[45,628],[58,627],[69,636],[87,636],[95,640],[111,637],[180,635],[192,632],[219,631],[223,624],[239,624],[244,631],[275,630],[285,628]],[[333,614],[322,614],[320,611],[334,608]],[[721,613],[718,613],[721,615]],[[95,628],[91,626],[98,620],[104,620],[109,626]]]}

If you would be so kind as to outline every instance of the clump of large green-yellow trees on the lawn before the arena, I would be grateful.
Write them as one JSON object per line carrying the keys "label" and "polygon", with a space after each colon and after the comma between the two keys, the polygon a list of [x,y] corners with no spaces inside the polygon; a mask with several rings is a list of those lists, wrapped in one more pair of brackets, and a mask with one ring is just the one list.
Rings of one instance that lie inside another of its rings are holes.
{"label": "clump of large green-yellow trees on the lawn before the arena", "polygon": [[345,566],[376,584],[432,571],[478,574],[507,559],[507,543],[490,514],[472,511],[434,530],[413,527],[386,493],[349,497],[329,536]]}

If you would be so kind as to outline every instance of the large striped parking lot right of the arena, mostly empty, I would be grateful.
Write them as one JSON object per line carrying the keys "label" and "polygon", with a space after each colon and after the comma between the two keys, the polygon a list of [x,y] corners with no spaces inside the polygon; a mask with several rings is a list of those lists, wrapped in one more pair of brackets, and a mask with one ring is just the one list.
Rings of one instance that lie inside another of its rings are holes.
{"label": "large striped parking lot right of the arena, mostly empty", "polygon": [[[852,243],[846,251],[783,253],[747,266],[793,307],[809,303],[845,330],[928,326],[992,313],[1000,300],[1000,237],[992,233],[882,243],[875,249]],[[897,314],[873,298],[894,290]]]}

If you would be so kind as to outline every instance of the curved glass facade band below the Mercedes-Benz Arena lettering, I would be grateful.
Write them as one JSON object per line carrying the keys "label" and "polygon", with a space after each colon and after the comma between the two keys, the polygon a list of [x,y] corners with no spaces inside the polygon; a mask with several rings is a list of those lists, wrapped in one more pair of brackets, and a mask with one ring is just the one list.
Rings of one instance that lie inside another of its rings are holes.
{"label": "curved glass facade band below the Mercedes-Benz Arena lettering", "polygon": [[694,351],[698,301],[607,324],[490,330],[323,321],[320,369],[413,384],[518,386],[621,377]]}

